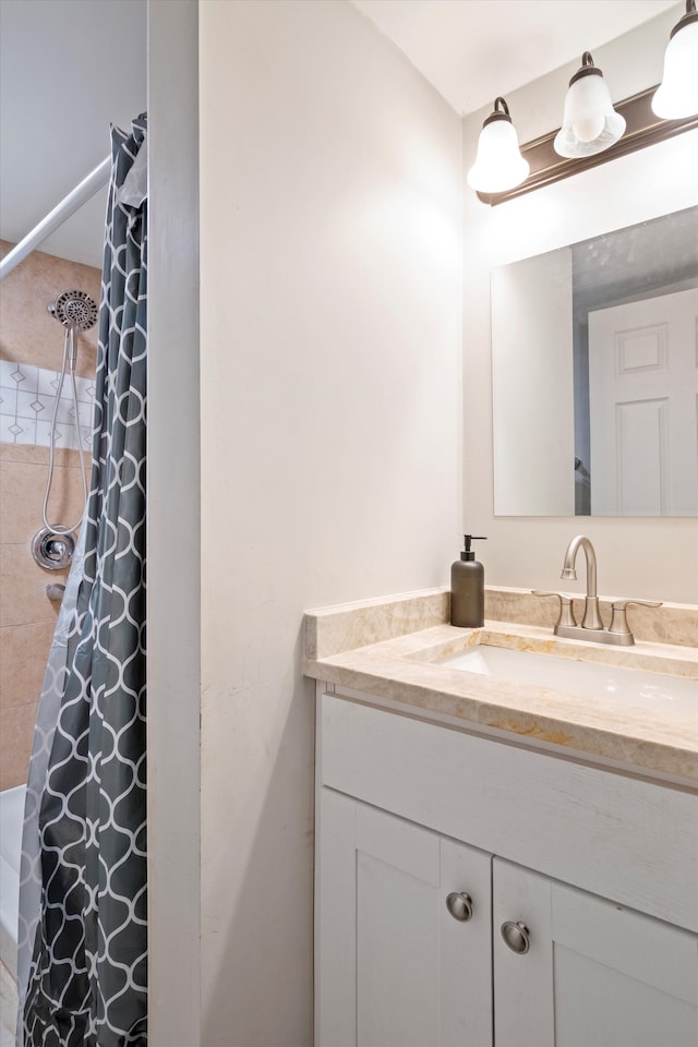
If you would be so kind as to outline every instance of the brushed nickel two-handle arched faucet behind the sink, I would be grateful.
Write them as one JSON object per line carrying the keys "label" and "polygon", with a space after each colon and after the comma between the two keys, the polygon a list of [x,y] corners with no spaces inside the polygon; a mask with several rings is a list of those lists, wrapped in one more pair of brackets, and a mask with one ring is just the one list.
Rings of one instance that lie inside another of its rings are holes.
{"label": "brushed nickel two-handle arched faucet behind the sink", "polygon": [[557,597],[559,600],[559,617],[555,624],[555,636],[575,640],[591,640],[594,643],[617,643],[630,647],[635,637],[628,628],[626,607],[629,603],[637,603],[642,607],[661,607],[661,603],[647,600],[614,600],[611,604],[612,618],[609,628],[604,628],[599,611],[599,595],[597,593],[597,554],[586,534],[577,534],[565,550],[561,578],[576,580],[575,563],[580,549],[585,551],[587,561],[587,595],[585,597],[585,613],[581,625],[577,625],[571,597],[563,592],[551,592],[546,589],[533,589],[537,597]]}

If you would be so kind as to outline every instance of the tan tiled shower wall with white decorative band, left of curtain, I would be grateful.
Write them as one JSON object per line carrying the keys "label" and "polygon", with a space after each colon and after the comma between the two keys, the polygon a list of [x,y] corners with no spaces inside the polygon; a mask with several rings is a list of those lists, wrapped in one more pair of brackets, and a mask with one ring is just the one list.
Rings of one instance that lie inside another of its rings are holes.
{"label": "tan tiled shower wall with white decorative band, left of curtain", "polygon": [[[0,253],[12,244],[0,241]],[[99,302],[99,270],[35,251],[0,284],[0,789],[26,781],[36,708],[58,604],[46,586],[65,583],[32,558],[41,525],[48,435],[64,329],[47,310],[64,290]],[[89,446],[97,327],[79,335],[81,442]],[[74,524],[82,513],[80,452],[67,378],[56,419],[56,465],[49,521]],[[89,460],[86,466],[89,477]]]}

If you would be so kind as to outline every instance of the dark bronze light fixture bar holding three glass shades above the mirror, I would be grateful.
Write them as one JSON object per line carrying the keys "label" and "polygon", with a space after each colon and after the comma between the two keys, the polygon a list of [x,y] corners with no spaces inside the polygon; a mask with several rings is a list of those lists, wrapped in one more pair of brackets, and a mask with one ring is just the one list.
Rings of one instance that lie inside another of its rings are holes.
{"label": "dark bronze light fixture bar holding three glass shades above the mirror", "polygon": [[521,146],[521,156],[531,166],[531,173],[525,182],[503,193],[478,193],[478,197],[483,203],[491,204],[494,207],[507,200],[514,200],[514,197],[531,193],[535,189],[542,189],[543,185],[552,185],[553,182],[558,182],[563,178],[570,178],[580,171],[598,167],[600,164],[606,164],[618,156],[635,153],[648,145],[664,142],[666,139],[673,139],[674,135],[682,134],[684,131],[698,128],[698,113],[693,117],[685,117],[683,120],[662,120],[654,116],[651,103],[655,91],[657,87],[650,87],[648,91],[642,91],[639,95],[633,95],[631,98],[626,98],[625,101],[615,106],[616,112],[625,118],[625,134],[615,145],[610,146],[603,153],[565,159],[557,155],[553,146],[557,131],[551,131],[550,134]]}

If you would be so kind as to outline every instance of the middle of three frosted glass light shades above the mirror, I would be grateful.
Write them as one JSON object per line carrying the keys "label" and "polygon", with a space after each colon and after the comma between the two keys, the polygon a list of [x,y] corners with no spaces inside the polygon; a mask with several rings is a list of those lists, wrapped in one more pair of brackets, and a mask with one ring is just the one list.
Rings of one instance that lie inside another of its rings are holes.
{"label": "middle of three frosted glass light shades above the mirror", "polygon": [[555,135],[559,156],[593,156],[622,136],[625,120],[613,108],[603,76],[598,73],[573,80],[565,96],[563,125]]}

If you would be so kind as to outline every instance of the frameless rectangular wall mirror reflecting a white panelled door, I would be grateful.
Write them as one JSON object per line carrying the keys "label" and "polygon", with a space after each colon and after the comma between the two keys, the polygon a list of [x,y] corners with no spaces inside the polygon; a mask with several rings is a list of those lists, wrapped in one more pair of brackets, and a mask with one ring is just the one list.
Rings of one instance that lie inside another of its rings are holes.
{"label": "frameless rectangular wall mirror reflecting a white panelled door", "polygon": [[495,516],[698,516],[698,207],[492,274]]}

